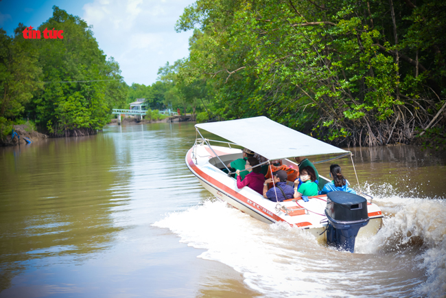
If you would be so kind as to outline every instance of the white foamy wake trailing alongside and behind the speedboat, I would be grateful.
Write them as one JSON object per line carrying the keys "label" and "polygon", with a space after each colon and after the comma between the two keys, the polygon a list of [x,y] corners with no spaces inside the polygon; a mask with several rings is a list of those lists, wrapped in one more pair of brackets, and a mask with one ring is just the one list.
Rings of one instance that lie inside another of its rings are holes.
{"label": "white foamy wake trailing alongside and behind the speedboat", "polygon": [[[190,247],[206,249],[198,257],[233,267],[266,297],[442,297],[444,201],[377,196],[375,203],[392,216],[384,218],[376,236],[357,239],[355,254],[329,249],[301,229],[267,225],[215,200],[167,214],[154,226],[170,229]],[[408,262],[412,255],[403,248],[420,238],[423,246],[416,247],[415,262]],[[394,260],[395,254],[401,260]],[[394,267],[415,273],[401,276]]]}

